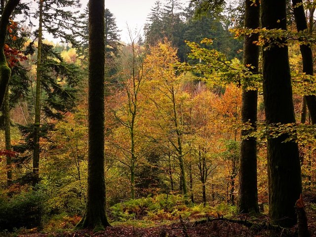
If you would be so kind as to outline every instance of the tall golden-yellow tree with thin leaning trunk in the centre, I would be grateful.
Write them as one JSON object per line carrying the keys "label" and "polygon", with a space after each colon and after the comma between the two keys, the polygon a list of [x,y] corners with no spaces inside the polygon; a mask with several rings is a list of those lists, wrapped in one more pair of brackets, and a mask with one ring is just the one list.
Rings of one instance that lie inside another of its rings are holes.
{"label": "tall golden-yellow tree with thin leaning trunk in the centre", "polygon": [[[148,70],[146,77],[149,80],[152,94],[146,96],[153,102],[158,113],[155,113],[154,119],[158,127],[165,129],[163,132],[166,139],[170,142],[173,152],[179,161],[181,190],[186,203],[188,203],[188,191],[184,164],[184,124],[179,115],[180,101],[185,99],[187,94],[181,95],[181,76],[178,76],[174,69],[174,64],[178,59],[176,50],[170,42],[161,43],[150,48],[151,54],[147,56],[144,62],[145,69]],[[183,96],[183,98],[181,98]],[[158,100],[160,98],[160,100]],[[162,121],[161,124],[159,120]]]}

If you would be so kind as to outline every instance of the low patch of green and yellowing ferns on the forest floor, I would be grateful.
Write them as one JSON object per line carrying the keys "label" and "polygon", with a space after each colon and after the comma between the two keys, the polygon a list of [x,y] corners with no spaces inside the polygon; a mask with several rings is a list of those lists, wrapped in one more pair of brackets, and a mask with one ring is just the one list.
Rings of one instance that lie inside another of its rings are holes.
{"label": "low patch of green and yellowing ferns on the forest floor", "polygon": [[130,222],[131,220],[144,220],[158,222],[173,221],[180,218],[200,219],[204,217],[217,217],[218,215],[232,216],[236,207],[227,203],[217,206],[202,204],[185,205],[181,195],[161,194],[155,197],[143,197],[127,200],[109,208],[110,218],[115,222]]}

